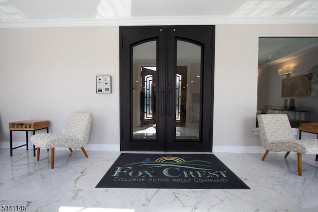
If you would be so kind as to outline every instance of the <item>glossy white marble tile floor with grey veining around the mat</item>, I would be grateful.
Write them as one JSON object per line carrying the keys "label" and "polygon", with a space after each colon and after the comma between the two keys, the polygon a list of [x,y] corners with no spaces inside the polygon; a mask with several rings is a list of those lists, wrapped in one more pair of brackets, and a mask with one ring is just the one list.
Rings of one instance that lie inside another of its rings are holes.
{"label": "glossy white marble tile floor with grey veining around the mat", "polygon": [[[318,162],[303,156],[298,176],[297,154],[270,152],[215,153],[250,190],[95,188],[120,152],[80,149],[48,152],[40,161],[32,151],[0,149],[1,207],[26,206],[27,212],[317,212]],[[12,208],[7,211],[23,211]],[[6,211],[1,208],[1,211]]]}

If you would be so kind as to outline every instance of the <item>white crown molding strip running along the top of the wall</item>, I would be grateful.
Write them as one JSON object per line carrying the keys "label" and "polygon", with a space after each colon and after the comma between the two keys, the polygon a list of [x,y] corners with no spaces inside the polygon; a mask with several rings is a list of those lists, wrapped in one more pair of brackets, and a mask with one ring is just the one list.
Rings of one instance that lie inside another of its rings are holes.
{"label": "white crown molding strip running along the top of the wall", "polygon": [[119,25],[215,25],[215,24],[318,24],[318,17],[165,16],[113,19],[16,19],[0,20],[0,28],[80,27]]}

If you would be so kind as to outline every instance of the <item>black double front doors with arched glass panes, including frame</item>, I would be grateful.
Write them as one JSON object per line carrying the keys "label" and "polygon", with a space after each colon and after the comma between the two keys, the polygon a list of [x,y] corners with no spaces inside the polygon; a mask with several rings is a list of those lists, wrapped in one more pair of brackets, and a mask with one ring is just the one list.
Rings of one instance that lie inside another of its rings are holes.
{"label": "black double front doors with arched glass panes, including frame", "polygon": [[214,32],[120,27],[121,151],[212,151]]}

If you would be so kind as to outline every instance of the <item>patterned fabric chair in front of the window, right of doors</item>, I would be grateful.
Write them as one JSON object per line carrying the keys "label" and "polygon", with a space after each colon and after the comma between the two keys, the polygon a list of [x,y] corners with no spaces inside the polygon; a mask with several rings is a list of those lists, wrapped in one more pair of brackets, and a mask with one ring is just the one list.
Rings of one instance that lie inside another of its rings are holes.
{"label": "patterned fabric chair in front of the window, right of doors", "polygon": [[266,149],[262,161],[269,151],[297,152],[298,175],[302,176],[302,155],[318,154],[318,139],[298,140],[293,134],[288,116],[286,114],[257,115],[259,136]]}

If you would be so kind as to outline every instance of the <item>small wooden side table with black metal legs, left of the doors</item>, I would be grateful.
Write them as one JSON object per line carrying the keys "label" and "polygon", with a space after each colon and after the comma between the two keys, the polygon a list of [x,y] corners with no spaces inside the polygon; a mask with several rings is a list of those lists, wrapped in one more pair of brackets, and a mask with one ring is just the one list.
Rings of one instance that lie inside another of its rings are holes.
{"label": "small wooden side table with black metal legs, left of the doors", "polygon": [[[28,132],[32,131],[33,135],[35,134],[36,130],[46,129],[46,132],[49,133],[49,124],[50,121],[48,120],[22,120],[22,121],[13,121],[9,123],[9,130],[10,130],[10,156],[12,156],[12,150],[26,146],[26,150],[29,149],[29,136]],[[25,131],[26,132],[26,144],[12,147],[12,131]],[[33,156],[35,156],[35,146],[33,145]]]}

